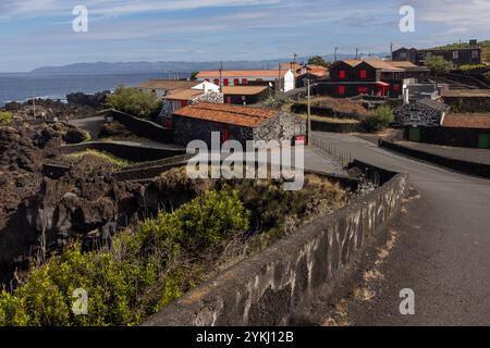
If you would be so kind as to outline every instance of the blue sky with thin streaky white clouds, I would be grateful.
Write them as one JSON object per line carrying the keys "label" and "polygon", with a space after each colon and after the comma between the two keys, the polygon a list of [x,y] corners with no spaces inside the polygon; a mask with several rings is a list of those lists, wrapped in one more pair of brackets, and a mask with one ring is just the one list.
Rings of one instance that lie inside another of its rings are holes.
{"label": "blue sky with thin streaky white clouds", "polygon": [[[400,9],[415,10],[415,32]],[[88,11],[76,33],[73,9]],[[272,60],[490,38],[490,0],[0,0],[0,72],[79,62]]]}

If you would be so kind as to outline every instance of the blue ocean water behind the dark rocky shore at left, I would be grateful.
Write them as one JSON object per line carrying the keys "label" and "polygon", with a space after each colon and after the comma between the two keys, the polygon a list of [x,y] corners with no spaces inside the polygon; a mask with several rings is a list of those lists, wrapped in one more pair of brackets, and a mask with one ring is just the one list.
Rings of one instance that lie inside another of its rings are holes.
{"label": "blue ocean water behind the dark rocky shore at left", "polygon": [[[187,76],[183,76],[187,77]],[[94,94],[114,90],[119,85],[137,86],[150,78],[166,78],[164,73],[107,75],[0,74],[0,107],[10,101],[23,102],[33,97],[62,100],[68,94]]]}

